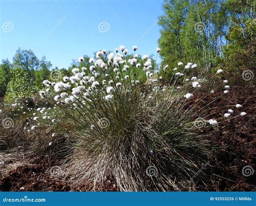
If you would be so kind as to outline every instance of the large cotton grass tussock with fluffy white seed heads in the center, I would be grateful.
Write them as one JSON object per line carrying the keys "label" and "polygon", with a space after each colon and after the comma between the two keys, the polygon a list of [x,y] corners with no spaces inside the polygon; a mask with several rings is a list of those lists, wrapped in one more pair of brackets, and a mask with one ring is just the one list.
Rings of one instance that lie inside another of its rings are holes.
{"label": "large cotton grass tussock with fluffy white seed heads in the center", "polygon": [[[198,170],[212,155],[210,133],[199,130],[218,126],[207,119],[207,109],[197,109],[199,100],[192,102],[204,81],[187,80],[186,71],[197,65],[179,63],[172,85],[160,86],[148,56],[138,63],[137,47],[133,56],[119,49],[97,52],[89,68],[73,68],[64,82],[43,82],[58,105],[45,124],[75,142],[65,165],[69,181],[91,190],[102,190],[108,180],[122,191],[194,190],[197,179],[205,178]],[[48,98],[45,91],[39,94]]]}

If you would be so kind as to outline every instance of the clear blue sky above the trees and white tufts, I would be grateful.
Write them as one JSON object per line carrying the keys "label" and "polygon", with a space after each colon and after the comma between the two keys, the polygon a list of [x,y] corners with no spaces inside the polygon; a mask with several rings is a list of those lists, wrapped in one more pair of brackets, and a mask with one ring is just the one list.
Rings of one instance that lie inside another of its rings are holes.
{"label": "clear blue sky above the trees and white tufts", "polygon": [[[0,0],[0,58],[30,49],[53,67],[121,44],[131,52],[156,54],[161,0]],[[102,23],[102,24],[100,24]],[[102,26],[100,26],[102,25]]]}

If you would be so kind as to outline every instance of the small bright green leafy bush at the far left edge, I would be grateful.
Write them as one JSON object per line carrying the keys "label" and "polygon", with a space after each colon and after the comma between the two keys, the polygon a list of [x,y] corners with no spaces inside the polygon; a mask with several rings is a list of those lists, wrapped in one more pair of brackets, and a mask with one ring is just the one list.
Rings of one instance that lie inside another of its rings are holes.
{"label": "small bright green leafy bush at the far left edge", "polygon": [[11,79],[7,85],[5,102],[14,102],[23,98],[31,98],[36,92],[35,82],[22,68],[11,70]]}

